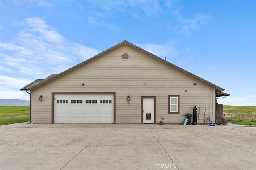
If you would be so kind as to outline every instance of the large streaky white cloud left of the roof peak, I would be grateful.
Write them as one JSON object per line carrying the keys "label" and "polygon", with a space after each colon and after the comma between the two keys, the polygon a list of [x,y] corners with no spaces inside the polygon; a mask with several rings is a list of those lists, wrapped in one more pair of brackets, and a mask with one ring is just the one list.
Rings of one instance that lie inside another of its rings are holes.
{"label": "large streaky white cloud left of the roof peak", "polygon": [[1,68],[26,76],[45,78],[62,72],[99,51],[71,43],[42,18],[26,18],[16,42],[1,42]]}

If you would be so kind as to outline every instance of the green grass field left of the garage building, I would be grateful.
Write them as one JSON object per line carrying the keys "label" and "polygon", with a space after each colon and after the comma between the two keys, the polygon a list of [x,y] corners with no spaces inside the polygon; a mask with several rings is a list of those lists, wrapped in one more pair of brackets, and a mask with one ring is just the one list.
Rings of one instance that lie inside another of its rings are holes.
{"label": "green grass field left of the garage building", "polygon": [[[26,110],[27,116],[14,117],[25,115]],[[0,106],[0,125],[8,125],[13,123],[21,123],[29,121],[29,106]]]}

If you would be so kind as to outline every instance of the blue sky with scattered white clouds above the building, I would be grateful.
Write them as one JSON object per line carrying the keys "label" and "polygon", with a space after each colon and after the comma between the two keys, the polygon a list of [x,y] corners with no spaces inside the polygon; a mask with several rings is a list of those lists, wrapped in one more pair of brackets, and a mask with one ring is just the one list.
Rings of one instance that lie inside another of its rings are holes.
{"label": "blue sky with scattered white clouds above the building", "polygon": [[127,40],[256,106],[256,1],[0,3],[0,98]]}

